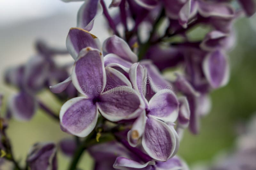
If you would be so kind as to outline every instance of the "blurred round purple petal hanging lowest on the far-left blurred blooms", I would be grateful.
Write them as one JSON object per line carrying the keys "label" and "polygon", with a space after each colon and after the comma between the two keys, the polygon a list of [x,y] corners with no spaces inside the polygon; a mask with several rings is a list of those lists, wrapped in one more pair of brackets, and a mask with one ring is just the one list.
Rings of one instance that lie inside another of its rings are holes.
{"label": "blurred round purple petal hanging lowest on the far-left blurred blooms", "polygon": [[36,112],[36,100],[34,96],[21,91],[10,98],[9,109],[16,119],[28,121]]}

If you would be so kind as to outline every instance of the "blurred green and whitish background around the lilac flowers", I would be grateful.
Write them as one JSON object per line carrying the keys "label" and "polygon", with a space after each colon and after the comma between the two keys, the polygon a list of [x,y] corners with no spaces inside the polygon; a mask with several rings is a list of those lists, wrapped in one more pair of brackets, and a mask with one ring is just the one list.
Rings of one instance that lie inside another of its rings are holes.
{"label": "blurred green and whitish background around the lilac flowers", "polygon": [[[110,0],[106,1],[110,3]],[[69,28],[76,26],[76,13],[82,2],[63,3],[60,0],[1,0],[0,1],[0,93],[6,98],[16,89],[3,82],[4,70],[26,62],[35,54],[36,39],[49,45],[65,48]],[[103,29],[103,18],[95,21],[92,33],[101,42],[109,33]],[[246,122],[256,114],[256,16],[235,23],[236,46],[229,53],[231,77],[228,85],[211,94],[212,110],[201,121],[201,132],[185,132],[178,154],[189,165],[210,163],[219,152],[232,152],[236,137]],[[200,36],[194,32],[194,36]],[[72,61],[67,55],[60,62]],[[48,90],[39,94],[48,106],[58,113],[61,104]],[[4,113],[3,108],[2,113]],[[24,162],[31,145],[38,141],[58,142],[68,134],[41,110],[30,122],[11,120],[8,135],[16,158]],[[59,169],[65,169],[69,158],[58,153]],[[92,159],[85,154],[79,167],[90,170]]]}

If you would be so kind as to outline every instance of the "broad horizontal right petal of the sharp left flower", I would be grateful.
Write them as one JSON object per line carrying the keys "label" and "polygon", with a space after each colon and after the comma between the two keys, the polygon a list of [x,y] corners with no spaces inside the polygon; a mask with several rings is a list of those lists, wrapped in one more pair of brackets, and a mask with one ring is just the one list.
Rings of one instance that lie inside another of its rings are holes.
{"label": "broad horizontal right petal of the sharp left flower", "polygon": [[128,86],[104,92],[97,105],[101,115],[112,122],[135,118],[145,109],[140,94]]}

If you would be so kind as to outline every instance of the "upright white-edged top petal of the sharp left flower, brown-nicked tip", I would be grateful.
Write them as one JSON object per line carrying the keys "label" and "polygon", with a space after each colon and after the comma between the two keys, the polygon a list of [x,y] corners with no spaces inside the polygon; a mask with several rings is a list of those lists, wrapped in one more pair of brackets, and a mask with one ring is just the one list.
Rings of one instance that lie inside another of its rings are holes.
{"label": "upright white-edged top petal of the sharp left flower, brown-nicked tip", "polygon": [[100,51],[90,47],[81,50],[71,78],[80,93],[89,97],[99,96],[106,85],[106,72]]}

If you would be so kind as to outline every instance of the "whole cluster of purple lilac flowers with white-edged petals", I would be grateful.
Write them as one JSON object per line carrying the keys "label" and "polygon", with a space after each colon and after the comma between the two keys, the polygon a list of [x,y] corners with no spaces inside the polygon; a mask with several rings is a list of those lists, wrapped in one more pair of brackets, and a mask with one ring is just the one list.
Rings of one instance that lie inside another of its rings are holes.
{"label": "whole cluster of purple lilac flowers with white-edged petals", "polygon": [[[61,130],[77,139],[60,142],[73,156],[72,170],[84,149],[95,159],[95,169],[187,170],[176,155],[182,133],[188,127],[198,133],[200,117],[211,107],[209,92],[228,82],[232,24],[244,13],[254,14],[256,3],[113,0],[109,8],[119,11],[110,15],[103,0],[85,0],[77,26],[68,32],[67,51],[38,41],[36,56],[6,71],[5,81],[19,89],[7,116],[29,120],[39,106],[59,120]],[[90,31],[102,13],[111,35],[101,43]],[[207,32],[204,37],[191,36],[199,27]],[[74,59],[71,74],[70,65],[53,60],[66,53]],[[59,117],[36,96],[45,87],[65,101]],[[3,135],[1,152],[21,169]],[[26,167],[57,169],[56,150],[53,143],[35,144]]]}

